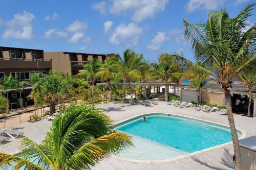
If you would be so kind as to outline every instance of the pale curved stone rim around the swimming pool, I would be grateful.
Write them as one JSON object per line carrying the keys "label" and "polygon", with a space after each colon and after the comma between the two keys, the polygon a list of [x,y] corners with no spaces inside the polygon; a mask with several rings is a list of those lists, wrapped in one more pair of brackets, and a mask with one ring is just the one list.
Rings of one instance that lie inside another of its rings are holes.
{"label": "pale curved stone rim around the swimming pool", "polygon": [[[201,122],[208,122],[208,123],[211,123],[211,124],[221,125],[221,126],[224,126],[224,127],[228,127],[228,128],[229,128],[229,126],[227,126],[227,125],[220,124],[220,123],[215,123],[215,122],[211,122],[211,121],[205,120],[205,119],[194,118],[194,117],[190,117],[190,116],[183,116],[183,115],[173,114],[173,113],[159,113],[159,112],[158,112],[158,113],[153,113],[153,112],[152,112],[152,113],[146,113],[146,114],[139,114],[139,115],[136,115],[136,116],[133,116],[133,117],[130,117],[130,118],[126,118],[126,119],[124,119],[124,120],[122,120],[122,121],[119,121],[119,122],[115,123],[114,125],[117,125],[117,124],[126,122],[127,120],[130,120],[130,119],[133,119],[133,118],[136,118],[136,117],[140,117],[140,116],[143,116],[143,115],[148,115],[148,114],[170,114],[170,115],[175,115],[175,116],[180,116],[180,117],[186,117],[186,118],[190,118],[190,119],[194,119],[194,120],[199,120],[199,121],[201,121]],[[246,136],[245,131],[243,131],[243,130],[240,129],[240,128],[236,128],[236,129],[239,130],[239,131],[242,133],[242,135],[240,136],[239,139],[245,138],[245,136]],[[123,157],[119,157],[119,156],[111,156],[111,157],[112,157],[112,158],[116,158],[116,159],[120,159],[120,160],[124,160],[124,161],[131,161],[131,162],[140,162],[140,163],[163,163],[163,162],[169,162],[169,161],[174,161],[174,160],[182,159],[182,158],[185,158],[185,157],[193,156],[193,155],[196,155],[196,154],[199,154],[199,153],[203,153],[203,152],[206,152],[206,151],[210,151],[210,150],[214,150],[214,149],[217,149],[217,148],[221,148],[221,147],[224,147],[224,146],[229,145],[229,144],[232,144],[232,141],[226,142],[226,143],[223,143],[223,144],[216,145],[215,147],[206,148],[206,149],[203,149],[203,150],[200,150],[200,151],[196,151],[196,152],[193,152],[193,153],[181,155],[181,156],[178,156],[178,157],[175,157],[175,158],[164,159],[164,160],[136,160],[136,159],[123,158]]]}

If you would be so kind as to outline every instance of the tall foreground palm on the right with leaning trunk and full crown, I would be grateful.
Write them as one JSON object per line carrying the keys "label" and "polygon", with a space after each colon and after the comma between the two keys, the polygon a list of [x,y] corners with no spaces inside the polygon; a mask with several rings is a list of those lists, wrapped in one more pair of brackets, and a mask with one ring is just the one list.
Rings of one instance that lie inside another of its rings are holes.
{"label": "tall foreground palm on the right with leaning trunk and full crown", "polygon": [[[231,130],[236,167],[242,170],[241,154],[236,126],[231,108],[230,89],[232,80],[241,69],[255,63],[255,55],[246,55],[255,50],[256,27],[248,27],[247,20],[252,15],[254,4],[246,6],[236,17],[230,18],[225,9],[210,12],[206,23],[190,24],[184,19],[184,36],[192,43],[197,61],[208,68],[193,64],[180,55],[172,55],[190,69],[205,72],[221,85],[227,108],[227,117]],[[167,55],[167,54],[166,54]]]}

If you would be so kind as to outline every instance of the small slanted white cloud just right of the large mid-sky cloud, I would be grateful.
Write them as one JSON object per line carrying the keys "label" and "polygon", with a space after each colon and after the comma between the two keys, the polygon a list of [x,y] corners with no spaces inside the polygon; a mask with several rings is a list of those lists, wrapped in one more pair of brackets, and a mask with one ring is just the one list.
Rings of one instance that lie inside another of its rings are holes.
{"label": "small slanted white cloud just right of the large mid-sky cloud", "polygon": [[151,43],[147,45],[147,50],[158,51],[161,49],[161,45],[167,41],[165,32],[157,32],[157,35],[151,40]]}

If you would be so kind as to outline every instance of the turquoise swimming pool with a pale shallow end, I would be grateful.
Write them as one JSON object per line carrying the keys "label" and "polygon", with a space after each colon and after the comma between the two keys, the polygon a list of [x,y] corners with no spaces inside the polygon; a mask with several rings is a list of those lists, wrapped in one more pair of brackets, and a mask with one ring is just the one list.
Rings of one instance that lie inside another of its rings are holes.
{"label": "turquoise swimming pool with a pale shallow end", "polygon": [[[228,127],[197,119],[168,115],[147,114],[117,125],[121,132],[130,134],[134,147],[120,157],[133,160],[163,160],[215,147],[232,140]],[[240,137],[242,133],[238,131]]]}

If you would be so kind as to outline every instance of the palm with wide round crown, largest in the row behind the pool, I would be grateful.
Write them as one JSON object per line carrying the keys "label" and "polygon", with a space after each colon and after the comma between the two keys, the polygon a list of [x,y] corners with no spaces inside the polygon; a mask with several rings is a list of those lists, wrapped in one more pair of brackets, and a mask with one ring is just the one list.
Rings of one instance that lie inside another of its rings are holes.
{"label": "palm with wide round crown, largest in the row behind the pool", "polygon": [[122,77],[123,81],[129,83],[131,105],[134,105],[131,83],[142,80],[142,72],[147,70],[146,61],[142,54],[136,54],[130,49],[123,52],[122,58],[119,54],[117,57],[119,61],[113,67],[116,67],[118,77]]}

